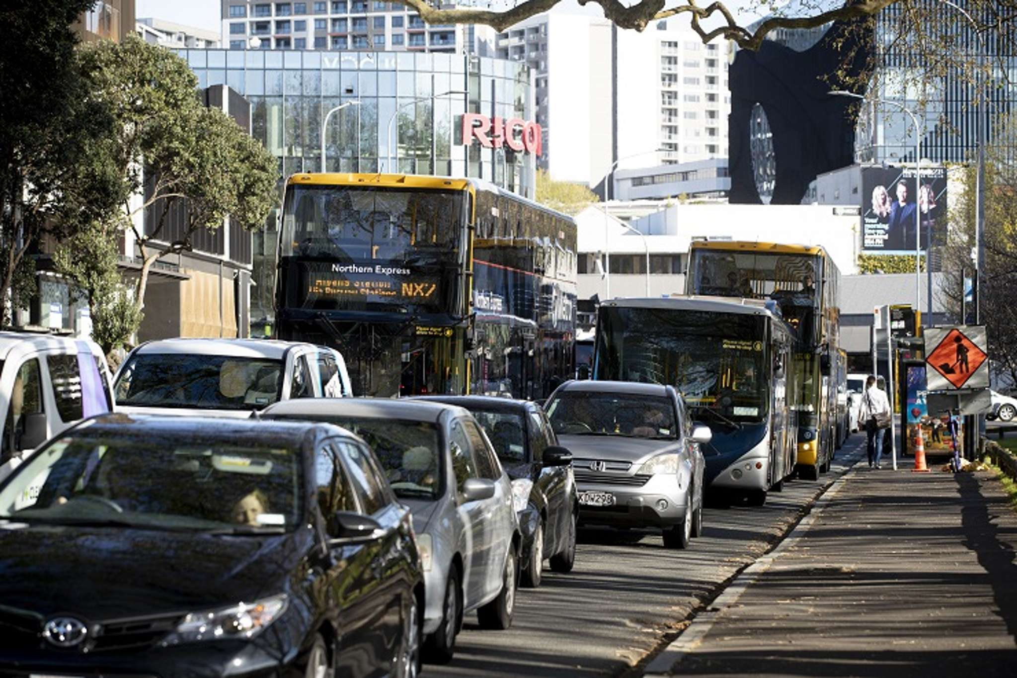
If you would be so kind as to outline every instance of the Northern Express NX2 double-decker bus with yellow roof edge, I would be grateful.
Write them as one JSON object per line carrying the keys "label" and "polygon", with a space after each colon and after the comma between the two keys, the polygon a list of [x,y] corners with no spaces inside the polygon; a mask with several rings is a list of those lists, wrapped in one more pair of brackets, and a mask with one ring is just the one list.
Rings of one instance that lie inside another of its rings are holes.
{"label": "Northern Express NX2 double-decker bus with yellow roof edge", "polygon": [[576,222],[476,179],[296,174],[276,334],[338,348],[357,395],[546,397],[575,372]]}

